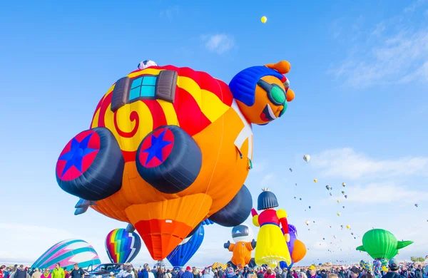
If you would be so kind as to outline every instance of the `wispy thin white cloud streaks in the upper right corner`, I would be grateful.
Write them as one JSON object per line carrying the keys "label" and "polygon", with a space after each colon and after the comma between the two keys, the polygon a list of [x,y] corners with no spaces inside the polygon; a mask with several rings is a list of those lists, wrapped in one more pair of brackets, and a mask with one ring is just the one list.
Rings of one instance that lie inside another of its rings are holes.
{"label": "wispy thin white cloud streaks in the upper right corner", "polygon": [[[425,2],[416,1],[405,11],[419,11]],[[350,54],[330,73],[345,79],[348,86],[428,82],[428,29],[417,29],[414,24],[404,26],[404,22],[407,21],[397,16],[374,26],[373,31],[359,39],[359,51]],[[353,26],[350,32],[352,29]],[[391,29],[389,36],[384,36],[387,29]]]}

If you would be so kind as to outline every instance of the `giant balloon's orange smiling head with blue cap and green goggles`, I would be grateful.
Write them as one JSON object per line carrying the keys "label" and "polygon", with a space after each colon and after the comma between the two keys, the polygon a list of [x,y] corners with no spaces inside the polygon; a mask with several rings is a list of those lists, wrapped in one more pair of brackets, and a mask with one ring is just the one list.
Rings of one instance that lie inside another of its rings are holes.
{"label": "giant balloon's orange smiling head with blue cap and green goggles", "polygon": [[[274,69],[275,71],[272,71]],[[252,96],[242,92],[243,96],[238,96],[237,104],[240,110],[251,123],[265,125],[280,118],[287,110],[287,101],[292,101],[295,94],[289,89],[290,81],[282,74],[290,71],[290,63],[281,61],[280,63],[265,65],[265,68],[254,68],[254,71],[248,71],[253,79],[255,90]],[[230,82],[231,90],[234,84]],[[235,93],[234,93],[235,95]]]}

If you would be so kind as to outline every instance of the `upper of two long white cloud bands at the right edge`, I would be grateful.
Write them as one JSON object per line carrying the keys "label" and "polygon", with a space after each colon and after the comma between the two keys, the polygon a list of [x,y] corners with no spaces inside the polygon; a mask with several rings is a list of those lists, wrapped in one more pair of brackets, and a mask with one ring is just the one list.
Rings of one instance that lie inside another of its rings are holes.
{"label": "upper of two long white cloud bands at the right edge", "polygon": [[397,175],[427,175],[428,158],[408,157],[390,160],[370,158],[352,148],[325,150],[312,155],[311,163],[325,177],[357,179],[360,177],[394,177]]}

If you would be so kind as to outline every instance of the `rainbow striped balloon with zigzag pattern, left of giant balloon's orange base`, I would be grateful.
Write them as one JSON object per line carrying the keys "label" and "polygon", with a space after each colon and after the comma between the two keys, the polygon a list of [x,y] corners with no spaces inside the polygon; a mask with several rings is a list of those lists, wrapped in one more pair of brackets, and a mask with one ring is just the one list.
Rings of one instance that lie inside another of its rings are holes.
{"label": "rainbow striped balloon with zigzag pattern, left of giant balloon's orange base", "polygon": [[116,229],[108,233],[106,251],[110,261],[116,264],[132,262],[141,249],[141,238],[136,232]]}

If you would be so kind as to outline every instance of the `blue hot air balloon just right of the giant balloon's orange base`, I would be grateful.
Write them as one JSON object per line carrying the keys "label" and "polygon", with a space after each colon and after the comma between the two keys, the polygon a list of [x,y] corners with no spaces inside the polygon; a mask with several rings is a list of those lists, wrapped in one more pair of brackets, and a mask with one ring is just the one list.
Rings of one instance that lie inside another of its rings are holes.
{"label": "blue hot air balloon just right of the giant balloon's orange base", "polygon": [[191,257],[198,251],[203,242],[205,230],[200,225],[198,230],[190,237],[185,238],[177,247],[173,249],[166,257],[173,267],[183,267]]}

